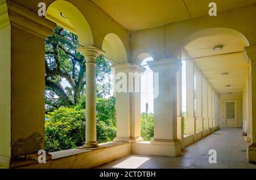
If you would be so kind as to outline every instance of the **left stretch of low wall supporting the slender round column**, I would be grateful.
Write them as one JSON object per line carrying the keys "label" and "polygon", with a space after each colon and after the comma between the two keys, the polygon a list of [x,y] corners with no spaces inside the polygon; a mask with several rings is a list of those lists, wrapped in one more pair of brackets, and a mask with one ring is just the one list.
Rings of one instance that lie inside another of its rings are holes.
{"label": "left stretch of low wall supporting the slender round column", "polygon": [[19,168],[38,168],[38,169],[87,169],[106,164],[118,158],[131,154],[130,143],[110,142],[100,144],[99,148],[68,149],[65,151],[53,152],[52,160],[45,164],[32,164]]}

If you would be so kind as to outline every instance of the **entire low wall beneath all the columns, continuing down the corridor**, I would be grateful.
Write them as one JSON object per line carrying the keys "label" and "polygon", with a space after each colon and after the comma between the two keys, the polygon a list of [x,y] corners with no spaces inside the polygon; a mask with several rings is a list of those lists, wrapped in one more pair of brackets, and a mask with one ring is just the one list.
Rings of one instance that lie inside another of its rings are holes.
{"label": "entire low wall beneath all the columns, continuing down the corridor", "polygon": [[[218,130],[220,127],[212,128]],[[213,132],[213,131],[212,131]],[[195,140],[199,140],[204,136],[209,135],[209,131],[199,131],[196,133]],[[184,135],[184,147],[194,143],[193,135]],[[45,164],[24,165],[16,164],[15,168],[37,168],[37,169],[86,169],[94,168],[118,158],[125,157],[131,154],[135,155],[155,155],[155,156],[171,156],[175,157],[180,154],[181,142],[168,142],[166,144],[157,144],[152,142],[124,143],[124,142],[109,142],[102,143],[98,148],[82,148],[68,149],[59,152],[49,153],[51,159]]]}

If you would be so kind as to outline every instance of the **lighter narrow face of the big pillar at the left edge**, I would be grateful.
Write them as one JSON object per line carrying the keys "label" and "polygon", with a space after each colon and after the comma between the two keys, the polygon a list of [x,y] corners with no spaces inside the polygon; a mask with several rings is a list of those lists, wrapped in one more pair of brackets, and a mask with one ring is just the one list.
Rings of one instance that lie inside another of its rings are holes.
{"label": "lighter narrow face of the big pillar at the left edge", "polygon": [[[11,27],[0,29],[0,162],[11,156]],[[1,166],[1,164],[0,164]]]}

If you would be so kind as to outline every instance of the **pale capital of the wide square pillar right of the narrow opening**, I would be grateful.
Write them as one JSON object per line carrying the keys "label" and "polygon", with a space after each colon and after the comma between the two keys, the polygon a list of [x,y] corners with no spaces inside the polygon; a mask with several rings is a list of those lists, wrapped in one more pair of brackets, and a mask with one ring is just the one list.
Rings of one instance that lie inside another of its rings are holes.
{"label": "pale capital of the wide square pillar right of the narrow opening", "polygon": [[148,65],[150,69],[154,72],[171,70],[171,71],[179,71],[182,65],[181,61],[176,58],[167,58],[167,59],[159,59],[155,61],[149,61]]}

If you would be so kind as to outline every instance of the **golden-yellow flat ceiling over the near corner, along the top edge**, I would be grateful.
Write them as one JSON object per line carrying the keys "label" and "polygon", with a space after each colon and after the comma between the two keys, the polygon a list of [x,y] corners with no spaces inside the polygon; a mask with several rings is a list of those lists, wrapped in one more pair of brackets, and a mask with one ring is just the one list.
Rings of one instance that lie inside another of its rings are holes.
{"label": "golden-yellow flat ceiling over the near corner, along the top edge", "polygon": [[138,31],[208,15],[209,3],[217,11],[251,5],[256,0],[92,0],[129,31]]}

